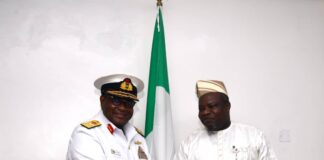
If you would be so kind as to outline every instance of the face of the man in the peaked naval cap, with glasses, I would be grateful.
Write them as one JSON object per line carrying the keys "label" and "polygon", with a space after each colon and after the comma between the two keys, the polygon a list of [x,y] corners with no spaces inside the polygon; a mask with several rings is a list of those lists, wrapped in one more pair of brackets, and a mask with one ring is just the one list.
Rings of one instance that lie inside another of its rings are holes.
{"label": "face of the man in the peaked naval cap, with glasses", "polygon": [[104,115],[118,128],[122,129],[133,116],[133,100],[104,95],[100,97],[100,102]]}

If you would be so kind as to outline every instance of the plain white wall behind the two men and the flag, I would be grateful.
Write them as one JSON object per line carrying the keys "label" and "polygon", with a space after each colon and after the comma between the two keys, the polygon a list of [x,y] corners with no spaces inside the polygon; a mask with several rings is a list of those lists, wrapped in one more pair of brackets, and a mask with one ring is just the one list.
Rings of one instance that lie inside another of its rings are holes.
{"label": "plain white wall behind the two men and the flag", "polygon": [[[170,0],[163,14],[177,146],[200,127],[195,81],[219,79],[232,119],[262,129],[279,159],[322,159],[323,0]],[[64,159],[99,110],[97,77],[147,82],[155,15],[153,0],[1,0],[0,159]]]}

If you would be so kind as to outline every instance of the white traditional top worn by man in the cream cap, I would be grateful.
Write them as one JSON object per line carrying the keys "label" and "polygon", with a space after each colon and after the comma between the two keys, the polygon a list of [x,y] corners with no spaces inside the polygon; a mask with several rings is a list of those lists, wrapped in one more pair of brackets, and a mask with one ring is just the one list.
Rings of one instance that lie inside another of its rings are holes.
{"label": "white traditional top worn by man in the cream cap", "polygon": [[175,160],[277,160],[263,133],[232,123],[222,131],[197,130],[180,145]]}

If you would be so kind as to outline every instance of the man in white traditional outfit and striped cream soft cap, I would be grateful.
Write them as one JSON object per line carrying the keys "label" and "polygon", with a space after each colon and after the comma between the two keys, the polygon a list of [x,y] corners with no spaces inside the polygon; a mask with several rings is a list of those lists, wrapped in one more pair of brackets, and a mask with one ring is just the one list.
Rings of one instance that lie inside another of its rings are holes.
{"label": "man in white traditional outfit and striped cream soft cap", "polygon": [[277,160],[264,134],[230,120],[228,94],[221,81],[197,82],[199,119],[204,128],[180,145],[176,160]]}

